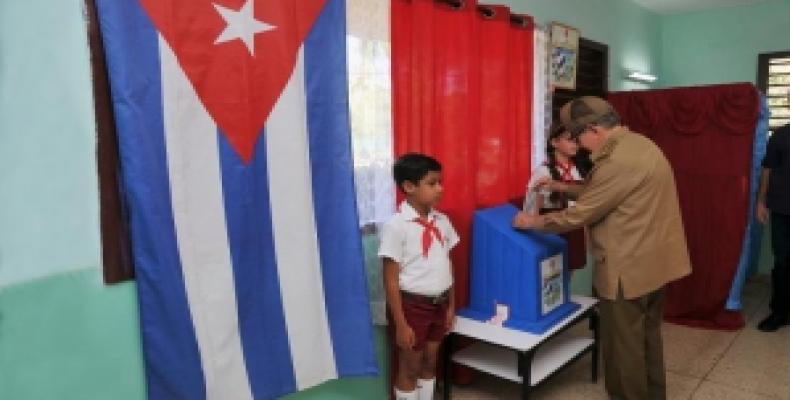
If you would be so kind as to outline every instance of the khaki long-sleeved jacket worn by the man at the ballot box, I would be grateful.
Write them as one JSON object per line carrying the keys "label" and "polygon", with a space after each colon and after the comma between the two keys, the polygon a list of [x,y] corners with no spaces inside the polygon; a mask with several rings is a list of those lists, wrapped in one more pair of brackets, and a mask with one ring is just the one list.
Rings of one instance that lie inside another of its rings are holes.
{"label": "khaki long-sleeved jacket worn by the man at the ballot box", "polygon": [[593,153],[576,205],[546,214],[544,230],[588,226],[598,295],[633,299],[691,273],[672,168],[650,139],[618,127]]}

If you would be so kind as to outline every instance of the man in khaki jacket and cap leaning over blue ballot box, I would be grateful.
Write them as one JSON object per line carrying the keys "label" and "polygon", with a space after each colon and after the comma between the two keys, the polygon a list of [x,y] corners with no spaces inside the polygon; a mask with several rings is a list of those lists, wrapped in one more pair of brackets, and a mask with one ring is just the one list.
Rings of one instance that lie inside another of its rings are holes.
{"label": "man in khaki jacket and cap leaning over blue ballot box", "polygon": [[672,168],[603,99],[569,102],[560,122],[592,152],[594,167],[583,185],[543,183],[575,197],[574,206],[519,213],[513,225],[556,233],[589,227],[606,390],[613,399],[665,399],[663,288],[691,272]]}

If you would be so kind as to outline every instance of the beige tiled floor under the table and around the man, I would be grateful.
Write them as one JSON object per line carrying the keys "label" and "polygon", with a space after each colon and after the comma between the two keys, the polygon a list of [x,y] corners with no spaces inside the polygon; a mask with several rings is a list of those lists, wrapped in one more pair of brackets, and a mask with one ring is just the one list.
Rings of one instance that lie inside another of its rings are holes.
{"label": "beige tiled floor under the table and around the man", "polygon": [[[664,324],[669,399],[790,400],[790,327],[775,333],[755,328],[767,314],[769,292],[767,277],[757,277],[746,285],[743,301],[748,321],[737,332]],[[515,383],[475,374],[471,384],[454,387],[453,399],[515,400],[519,393]],[[607,399],[603,379],[597,384],[590,381],[589,356],[533,393],[532,398],[538,400]]]}

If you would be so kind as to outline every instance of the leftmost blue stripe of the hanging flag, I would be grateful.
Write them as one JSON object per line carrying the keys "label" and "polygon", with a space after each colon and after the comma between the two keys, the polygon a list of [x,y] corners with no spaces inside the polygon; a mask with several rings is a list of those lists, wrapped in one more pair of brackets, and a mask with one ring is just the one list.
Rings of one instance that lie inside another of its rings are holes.
{"label": "leftmost blue stripe of the hanging flag", "polygon": [[97,7],[130,205],[147,397],[205,399],[170,203],[158,34],[137,2]]}

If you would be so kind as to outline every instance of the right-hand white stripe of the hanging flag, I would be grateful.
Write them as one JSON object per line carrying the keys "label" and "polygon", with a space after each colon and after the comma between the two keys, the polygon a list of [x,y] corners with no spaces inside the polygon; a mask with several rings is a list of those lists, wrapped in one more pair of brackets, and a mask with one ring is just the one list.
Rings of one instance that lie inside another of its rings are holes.
{"label": "right-hand white stripe of the hanging flag", "polygon": [[272,230],[296,385],[337,377],[315,226],[304,48],[266,123]]}

